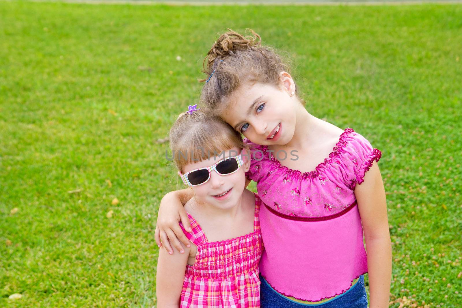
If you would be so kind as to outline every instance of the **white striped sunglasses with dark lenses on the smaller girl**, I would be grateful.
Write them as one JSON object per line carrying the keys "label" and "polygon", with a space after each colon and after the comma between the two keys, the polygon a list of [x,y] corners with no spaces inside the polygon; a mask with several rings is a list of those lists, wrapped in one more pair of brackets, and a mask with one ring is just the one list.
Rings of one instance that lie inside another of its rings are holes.
{"label": "white striped sunglasses with dark lenses on the smaller girl", "polygon": [[181,171],[178,171],[178,175],[181,176],[185,185],[199,186],[210,180],[212,170],[215,170],[219,175],[230,175],[239,170],[244,164],[241,155],[242,153],[237,156],[223,158],[213,166],[194,169],[186,172],[184,175]]}

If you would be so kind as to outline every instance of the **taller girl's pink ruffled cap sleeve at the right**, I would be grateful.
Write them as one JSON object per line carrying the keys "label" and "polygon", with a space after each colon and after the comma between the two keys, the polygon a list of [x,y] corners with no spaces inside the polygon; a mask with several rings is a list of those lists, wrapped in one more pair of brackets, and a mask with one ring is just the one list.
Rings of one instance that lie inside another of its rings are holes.
{"label": "taller girl's pink ruffled cap sleeve at the right", "polygon": [[346,145],[341,151],[343,179],[352,190],[356,184],[364,182],[365,173],[372,167],[374,160],[379,161],[382,152],[373,148],[371,143],[359,133],[352,131],[347,135]]}

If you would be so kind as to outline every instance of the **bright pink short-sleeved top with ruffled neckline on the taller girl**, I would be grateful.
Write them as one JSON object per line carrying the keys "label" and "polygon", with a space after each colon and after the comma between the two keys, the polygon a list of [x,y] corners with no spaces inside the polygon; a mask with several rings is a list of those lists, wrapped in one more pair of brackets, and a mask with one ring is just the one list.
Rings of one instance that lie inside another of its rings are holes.
{"label": "bright pink short-sleeved top with ruffled neckline on the taller girl", "polygon": [[344,293],[367,272],[354,188],[382,153],[347,128],[329,157],[302,174],[281,166],[267,146],[244,142],[255,147],[246,175],[264,203],[261,274],[279,293],[303,301]]}

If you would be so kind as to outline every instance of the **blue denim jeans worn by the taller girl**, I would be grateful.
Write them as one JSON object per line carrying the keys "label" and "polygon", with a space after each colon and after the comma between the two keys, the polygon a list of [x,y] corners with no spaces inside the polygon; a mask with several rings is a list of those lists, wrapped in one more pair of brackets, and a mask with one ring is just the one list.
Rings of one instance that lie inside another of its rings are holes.
{"label": "blue denim jeans worn by the taller girl", "polygon": [[260,275],[261,308],[367,308],[367,293],[364,287],[364,275],[359,276],[358,282],[341,296],[322,304],[300,304],[281,296]]}

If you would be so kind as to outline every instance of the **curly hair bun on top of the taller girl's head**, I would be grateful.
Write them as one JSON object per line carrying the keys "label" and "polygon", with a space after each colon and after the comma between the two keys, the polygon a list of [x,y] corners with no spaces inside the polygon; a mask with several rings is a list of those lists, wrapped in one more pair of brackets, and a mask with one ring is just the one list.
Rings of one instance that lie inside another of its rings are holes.
{"label": "curly hair bun on top of the taller girl's head", "polygon": [[235,55],[239,50],[261,46],[261,37],[254,30],[246,29],[251,35],[243,36],[230,28],[226,29],[228,32],[220,35],[207,53],[204,59],[204,69],[211,70],[217,58],[225,58],[228,55]]}

